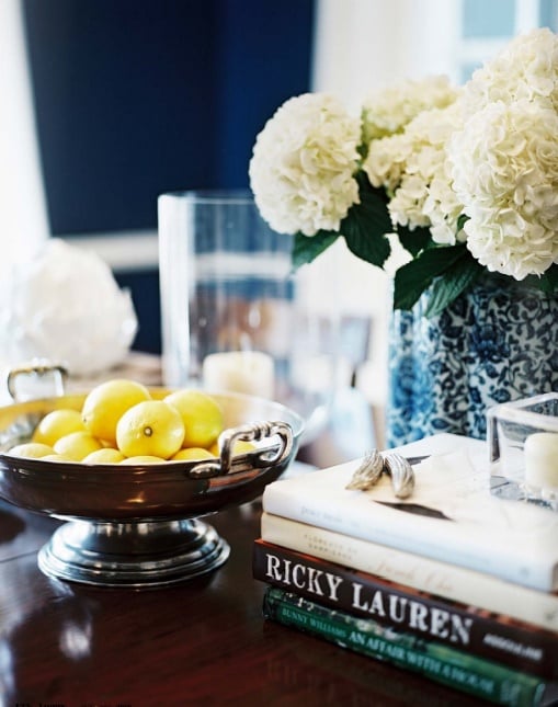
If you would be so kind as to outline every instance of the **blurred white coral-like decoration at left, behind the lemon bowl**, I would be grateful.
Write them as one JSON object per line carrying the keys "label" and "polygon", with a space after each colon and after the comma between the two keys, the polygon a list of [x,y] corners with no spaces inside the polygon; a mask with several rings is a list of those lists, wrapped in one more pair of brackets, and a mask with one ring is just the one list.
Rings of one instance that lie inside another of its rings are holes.
{"label": "blurred white coral-like decoration at left, behind the lemon bowl", "polygon": [[47,358],[89,375],[126,356],[137,330],[134,306],[98,255],[49,238],[2,286],[0,351],[7,363]]}

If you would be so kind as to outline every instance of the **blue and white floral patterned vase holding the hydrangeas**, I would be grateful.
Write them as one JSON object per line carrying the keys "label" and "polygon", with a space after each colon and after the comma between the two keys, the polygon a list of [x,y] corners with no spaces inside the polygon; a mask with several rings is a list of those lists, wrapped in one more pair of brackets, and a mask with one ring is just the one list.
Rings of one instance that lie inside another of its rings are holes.
{"label": "blue and white floral patterned vase holding the hydrangeas", "polygon": [[491,406],[558,390],[556,295],[487,276],[426,319],[429,297],[392,313],[388,447],[440,432],[483,440]]}

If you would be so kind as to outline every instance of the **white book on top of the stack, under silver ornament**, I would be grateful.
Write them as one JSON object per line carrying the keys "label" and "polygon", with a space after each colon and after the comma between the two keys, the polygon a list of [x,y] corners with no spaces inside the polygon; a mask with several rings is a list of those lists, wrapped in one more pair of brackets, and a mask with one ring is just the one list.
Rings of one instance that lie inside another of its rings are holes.
{"label": "white book on top of the stack, under silver ornament", "polygon": [[368,491],[348,490],[357,467],[355,460],[274,481],[263,510],[543,592],[557,589],[558,514],[491,495],[488,471],[475,468],[466,444],[417,465],[406,500],[386,475]]}

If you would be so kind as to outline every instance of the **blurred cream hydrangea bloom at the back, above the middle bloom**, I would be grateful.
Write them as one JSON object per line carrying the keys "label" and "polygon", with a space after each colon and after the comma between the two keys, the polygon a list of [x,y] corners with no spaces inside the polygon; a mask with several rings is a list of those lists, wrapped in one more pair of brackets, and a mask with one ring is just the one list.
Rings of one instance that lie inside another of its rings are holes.
{"label": "blurred cream hydrangea bloom at the back, above the middle bloom", "polygon": [[419,113],[453,103],[458,89],[445,76],[403,80],[371,93],[363,102],[363,135],[366,145],[401,133]]}

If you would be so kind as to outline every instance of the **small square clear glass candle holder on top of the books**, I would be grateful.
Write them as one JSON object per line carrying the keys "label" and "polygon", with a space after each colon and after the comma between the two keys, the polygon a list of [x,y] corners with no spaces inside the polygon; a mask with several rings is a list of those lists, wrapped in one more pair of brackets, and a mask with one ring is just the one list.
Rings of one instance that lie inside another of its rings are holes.
{"label": "small square clear glass candle holder on top of the books", "polygon": [[487,419],[491,492],[558,510],[558,394],[496,406]]}

